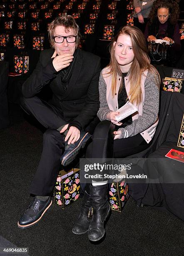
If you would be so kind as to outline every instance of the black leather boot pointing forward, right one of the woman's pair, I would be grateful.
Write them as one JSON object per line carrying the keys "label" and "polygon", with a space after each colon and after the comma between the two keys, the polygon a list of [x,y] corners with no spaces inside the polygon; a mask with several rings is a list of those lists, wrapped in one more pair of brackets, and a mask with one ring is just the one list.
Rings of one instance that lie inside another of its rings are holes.
{"label": "black leather boot pointing forward, right one of the woman's pair", "polygon": [[105,234],[104,221],[107,218],[110,205],[107,201],[108,184],[102,186],[90,186],[93,213],[90,222],[88,238],[90,241],[99,241]]}

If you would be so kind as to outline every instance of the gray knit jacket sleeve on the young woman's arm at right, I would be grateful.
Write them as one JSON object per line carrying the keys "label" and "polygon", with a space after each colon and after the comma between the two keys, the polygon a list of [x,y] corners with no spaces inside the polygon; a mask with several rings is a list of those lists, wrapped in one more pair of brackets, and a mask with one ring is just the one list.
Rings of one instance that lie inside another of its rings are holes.
{"label": "gray knit jacket sleeve on the young woman's arm at right", "polygon": [[152,68],[148,71],[145,79],[145,99],[142,116],[139,115],[139,118],[125,128],[119,128],[118,131],[121,131],[120,138],[132,137],[142,133],[157,120],[159,112],[159,83],[159,74]]}

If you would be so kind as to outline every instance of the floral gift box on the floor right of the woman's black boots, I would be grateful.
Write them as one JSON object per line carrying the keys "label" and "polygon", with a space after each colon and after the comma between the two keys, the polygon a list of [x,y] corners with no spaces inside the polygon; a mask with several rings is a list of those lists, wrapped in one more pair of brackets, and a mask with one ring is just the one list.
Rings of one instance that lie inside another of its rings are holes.
{"label": "floral gift box on the floor right of the woman's black boots", "polygon": [[128,197],[128,184],[125,181],[112,183],[109,191],[109,203],[112,210],[122,212]]}

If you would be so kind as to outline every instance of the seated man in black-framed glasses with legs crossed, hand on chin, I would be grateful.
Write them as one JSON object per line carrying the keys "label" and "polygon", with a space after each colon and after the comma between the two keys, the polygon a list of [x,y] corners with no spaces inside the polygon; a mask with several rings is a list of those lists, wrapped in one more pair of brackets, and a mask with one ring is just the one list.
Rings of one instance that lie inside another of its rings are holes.
{"label": "seated man in black-framed glasses with legs crossed, hand on chin", "polygon": [[[47,130],[30,188],[35,199],[18,221],[19,228],[35,225],[49,209],[61,162],[70,164],[85,145],[99,109],[100,58],[77,48],[80,32],[74,18],[57,17],[48,31],[52,49],[41,52],[22,86],[22,108]],[[53,92],[50,102],[35,96],[47,84]]]}

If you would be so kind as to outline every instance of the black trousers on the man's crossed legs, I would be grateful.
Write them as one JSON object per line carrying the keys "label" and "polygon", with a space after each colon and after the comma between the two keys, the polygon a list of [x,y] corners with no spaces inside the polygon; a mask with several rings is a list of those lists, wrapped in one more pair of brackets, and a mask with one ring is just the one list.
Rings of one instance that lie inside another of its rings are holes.
{"label": "black trousers on the man's crossed legs", "polygon": [[21,98],[22,108],[33,115],[45,128],[43,150],[35,177],[30,187],[33,195],[51,195],[60,170],[60,156],[65,149],[65,136],[56,129],[67,122],[59,110],[38,97]]}

